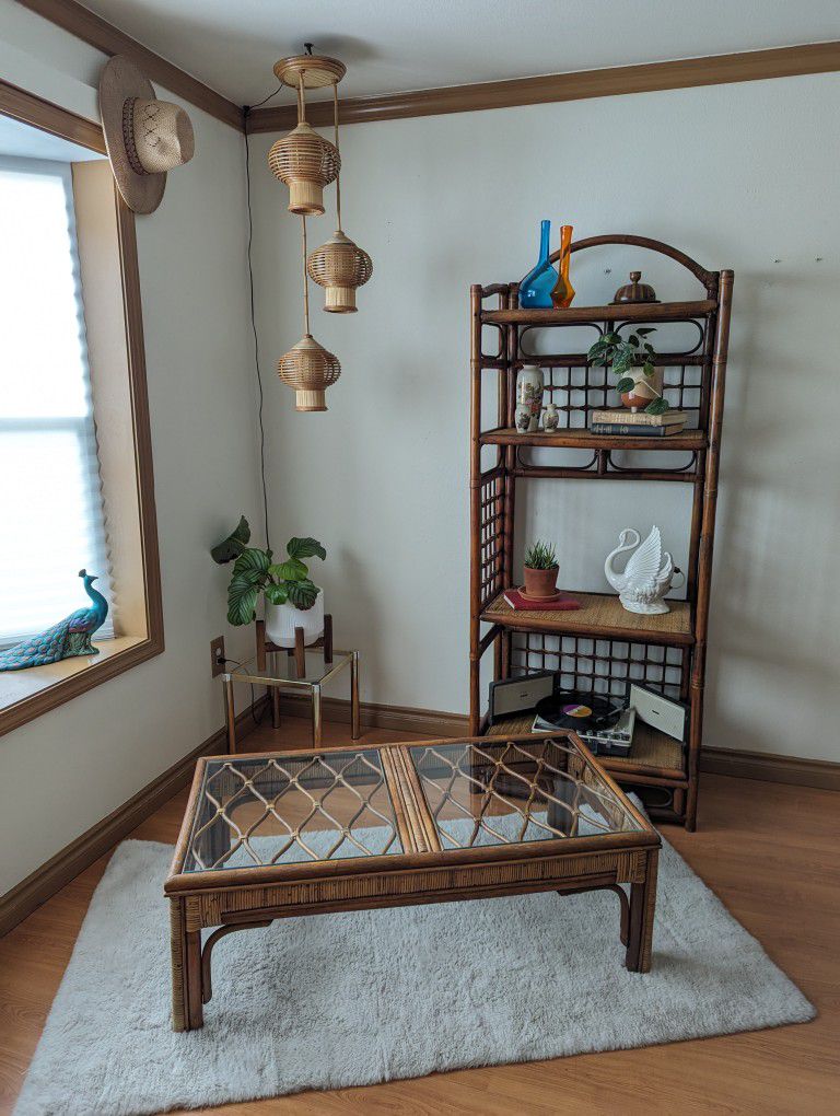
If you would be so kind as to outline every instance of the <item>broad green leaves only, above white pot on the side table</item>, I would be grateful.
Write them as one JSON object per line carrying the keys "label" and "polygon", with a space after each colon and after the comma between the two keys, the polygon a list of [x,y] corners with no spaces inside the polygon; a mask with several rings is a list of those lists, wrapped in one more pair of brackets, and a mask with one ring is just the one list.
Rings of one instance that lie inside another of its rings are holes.
{"label": "broad green leaves only, above white pot on the side table", "polygon": [[249,547],[250,540],[251,528],[243,516],[236,529],[210,551],[220,566],[233,562],[228,586],[228,620],[236,626],[250,624],[257,616],[261,593],[272,605],[284,605],[288,600],[296,608],[311,608],[320,590],[310,580],[309,567],[302,559],[327,557],[318,539],[289,539],[287,557],[280,562],[273,560],[271,550]]}

